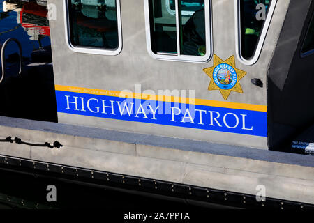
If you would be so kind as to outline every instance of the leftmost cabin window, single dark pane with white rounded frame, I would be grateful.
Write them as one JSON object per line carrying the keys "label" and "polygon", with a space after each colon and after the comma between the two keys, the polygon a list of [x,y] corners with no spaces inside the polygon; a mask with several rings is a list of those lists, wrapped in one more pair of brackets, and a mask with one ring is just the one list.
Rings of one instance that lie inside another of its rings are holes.
{"label": "leftmost cabin window, single dark pane with white rounded frame", "polygon": [[71,49],[91,54],[121,52],[119,0],[65,0],[67,39]]}

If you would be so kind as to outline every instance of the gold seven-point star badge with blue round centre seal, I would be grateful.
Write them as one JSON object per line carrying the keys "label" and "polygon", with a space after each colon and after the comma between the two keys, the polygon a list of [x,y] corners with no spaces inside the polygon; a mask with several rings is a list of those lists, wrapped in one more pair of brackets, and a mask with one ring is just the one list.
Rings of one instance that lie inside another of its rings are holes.
{"label": "gold seven-point star badge with blue round centre seal", "polygon": [[204,72],[211,78],[208,90],[219,90],[225,100],[231,91],[243,93],[239,81],[246,75],[246,72],[236,68],[234,56],[223,61],[215,54],[214,66],[205,68]]}

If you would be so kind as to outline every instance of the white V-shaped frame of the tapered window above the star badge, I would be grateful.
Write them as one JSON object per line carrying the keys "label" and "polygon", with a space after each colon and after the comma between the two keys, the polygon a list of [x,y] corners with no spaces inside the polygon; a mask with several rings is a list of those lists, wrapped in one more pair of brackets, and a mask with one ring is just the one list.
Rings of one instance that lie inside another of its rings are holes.
{"label": "white V-shaped frame of the tapered window above the star badge", "polygon": [[276,9],[277,1],[278,0],[271,0],[271,3],[269,4],[269,10],[267,13],[266,20],[264,21],[264,25],[262,27],[262,31],[260,33],[260,37],[257,42],[257,46],[255,49],[255,52],[251,59],[245,59],[242,56],[241,52],[241,7],[240,7],[240,1],[241,0],[234,0],[234,10],[235,10],[235,40],[236,40],[236,54],[237,54],[237,59],[241,61],[246,66],[252,66],[255,63],[257,63],[258,59],[260,59],[260,54],[262,52],[262,48],[264,46],[264,42],[269,30],[269,26],[271,23],[271,19],[274,15],[274,11]]}

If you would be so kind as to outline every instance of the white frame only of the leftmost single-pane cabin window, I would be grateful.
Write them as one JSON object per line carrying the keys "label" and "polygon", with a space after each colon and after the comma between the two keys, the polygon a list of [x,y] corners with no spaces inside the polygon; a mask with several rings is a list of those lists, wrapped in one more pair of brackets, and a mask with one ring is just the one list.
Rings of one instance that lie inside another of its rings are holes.
{"label": "white frame only of the leftmost single-pane cabin window", "polygon": [[63,0],[63,12],[64,12],[64,26],[65,26],[65,36],[66,45],[73,52],[83,53],[83,54],[96,54],[96,55],[106,55],[106,56],[117,56],[121,53],[123,43],[122,43],[122,24],[121,24],[121,3],[120,0],[116,0],[117,7],[117,25],[118,25],[118,47],[117,49],[105,49],[102,47],[88,47],[88,46],[75,46],[70,40],[70,19],[68,11],[68,0]]}

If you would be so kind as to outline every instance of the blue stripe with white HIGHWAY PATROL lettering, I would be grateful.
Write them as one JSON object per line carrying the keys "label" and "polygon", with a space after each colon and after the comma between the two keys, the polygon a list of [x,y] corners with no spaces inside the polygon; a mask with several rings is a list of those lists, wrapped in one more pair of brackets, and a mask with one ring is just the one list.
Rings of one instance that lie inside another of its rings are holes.
{"label": "blue stripe with white HIGHWAY PATROL lettering", "polygon": [[[75,102],[75,97],[77,97],[76,104],[73,103]],[[67,91],[56,91],[56,98],[58,112],[66,114],[267,137],[267,112],[204,105],[187,105],[173,102],[156,102],[153,100],[126,99]],[[87,104],[89,104],[89,107]],[[113,113],[112,108],[105,107],[104,110],[103,105],[113,105]],[[121,114],[120,108],[123,109],[124,105],[130,109],[130,115],[126,112],[126,109]],[[151,109],[153,111],[156,110],[155,116],[151,112]],[[186,111],[187,109],[188,111]],[[180,114],[179,110],[181,110]],[[200,112],[200,110],[203,112]],[[137,112],[140,113],[137,114]],[[141,114],[141,112],[145,114]],[[218,116],[219,118],[217,118]]]}

